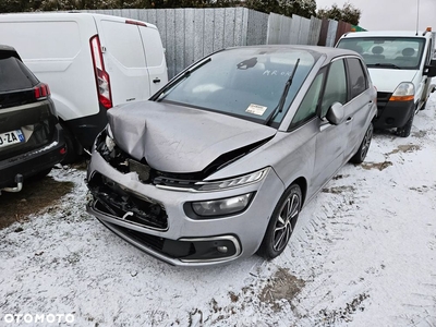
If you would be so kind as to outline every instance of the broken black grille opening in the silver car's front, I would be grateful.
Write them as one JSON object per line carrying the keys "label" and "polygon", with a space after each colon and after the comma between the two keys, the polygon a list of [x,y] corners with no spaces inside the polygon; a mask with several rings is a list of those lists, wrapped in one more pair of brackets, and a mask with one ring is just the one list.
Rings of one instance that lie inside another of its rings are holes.
{"label": "broken black grille opening in the silver car's front", "polygon": [[88,187],[96,199],[97,210],[141,227],[168,229],[168,216],[162,204],[123,190],[98,172],[89,180]]}

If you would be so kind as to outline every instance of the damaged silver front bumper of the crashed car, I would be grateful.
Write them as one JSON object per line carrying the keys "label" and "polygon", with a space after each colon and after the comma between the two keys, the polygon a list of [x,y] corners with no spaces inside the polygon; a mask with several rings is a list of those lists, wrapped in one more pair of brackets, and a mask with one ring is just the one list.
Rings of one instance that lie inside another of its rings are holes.
{"label": "damaged silver front bumper of the crashed car", "polygon": [[[96,192],[94,186],[96,180],[100,183],[100,175],[111,191],[102,187]],[[272,169],[258,183],[232,190],[191,193],[158,189],[140,182],[136,173],[113,169],[97,152],[93,153],[87,180],[94,196],[87,205],[89,214],[125,241],[175,266],[216,265],[253,255],[284,191]],[[246,193],[253,193],[253,198],[242,213],[202,219],[191,218],[185,213],[187,202]],[[125,202],[116,197],[125,198]]]}

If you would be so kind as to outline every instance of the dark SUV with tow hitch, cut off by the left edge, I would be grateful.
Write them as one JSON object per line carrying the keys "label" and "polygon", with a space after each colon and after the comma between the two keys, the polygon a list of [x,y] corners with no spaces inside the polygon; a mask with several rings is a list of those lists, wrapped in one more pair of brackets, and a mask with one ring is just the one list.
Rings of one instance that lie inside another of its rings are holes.
{"label": "dark SUV with tow hitch, cut off by the left edge", "polygon": [[0,193],[21,191],[23,180],[46,175],[65,154],[48,85],[0,45]]}

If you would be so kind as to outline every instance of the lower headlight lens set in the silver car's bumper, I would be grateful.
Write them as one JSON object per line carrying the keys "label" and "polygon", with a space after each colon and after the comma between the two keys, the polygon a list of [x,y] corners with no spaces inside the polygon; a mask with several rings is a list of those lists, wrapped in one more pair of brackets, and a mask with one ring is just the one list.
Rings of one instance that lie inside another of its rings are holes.
{"label": "lower headlight lens set in the silver car's bumper", "polygon": [[246,208],[252,195],[253,193],[247,193],[220,199],[193,202],[192,209],[196,215],[206,217],[237,214]]}

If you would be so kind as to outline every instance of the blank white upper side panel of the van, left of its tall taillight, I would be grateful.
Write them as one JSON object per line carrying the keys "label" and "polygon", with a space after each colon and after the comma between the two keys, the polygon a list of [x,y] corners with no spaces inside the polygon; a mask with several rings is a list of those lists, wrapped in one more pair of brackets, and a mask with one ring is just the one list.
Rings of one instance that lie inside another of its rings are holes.
{"label": "blank white upper side panel of the van, left of its tall taillight", "polygon": [[[14,47],[23,61],[71,59],[81,51],[76,22],[62,22],[62,28],[59,22],[8,22],[0,23],[0,31],[1,43]],[[32,41],[17,41],[17,35],[32,35]]]}

